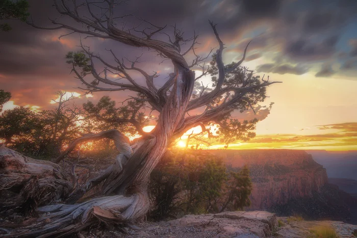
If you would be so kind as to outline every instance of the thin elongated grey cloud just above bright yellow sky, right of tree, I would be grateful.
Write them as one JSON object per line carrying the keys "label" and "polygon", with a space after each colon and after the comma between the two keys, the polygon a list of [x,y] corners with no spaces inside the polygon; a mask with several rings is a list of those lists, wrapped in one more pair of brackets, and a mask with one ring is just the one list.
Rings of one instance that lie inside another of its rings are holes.
{"label": "thin elongated grey cloud just above bright yellow sky, right of tree", "polygon": [[301,75],[308,72],[307,67],[303,67],[300,65],[292,66],[289,64],[275,65],[275,64],[263,64],[258,66],[258,72],[266,72],[266,73],[278,73],[278,74],[297,74]]}

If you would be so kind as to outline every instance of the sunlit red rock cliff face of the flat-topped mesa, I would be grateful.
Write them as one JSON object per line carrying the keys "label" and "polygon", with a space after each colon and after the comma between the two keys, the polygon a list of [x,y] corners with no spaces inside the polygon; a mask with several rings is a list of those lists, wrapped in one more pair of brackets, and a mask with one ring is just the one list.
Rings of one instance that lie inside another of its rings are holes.
{"label": "sunlit red rock cliff face of the flat-topped mesa", "polygon": [[322,165],[302,150],[211,150],[233,170],[248,165],[253,181],[249,209],[285,204],[290,198],[311,197],[327,182]]}

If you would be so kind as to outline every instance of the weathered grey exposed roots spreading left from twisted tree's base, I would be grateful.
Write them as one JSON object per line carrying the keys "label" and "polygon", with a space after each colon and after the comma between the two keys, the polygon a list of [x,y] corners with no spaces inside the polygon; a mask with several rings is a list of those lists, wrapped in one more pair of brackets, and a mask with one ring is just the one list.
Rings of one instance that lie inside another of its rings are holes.
{"label": "weathered grey exposed roots spreading left from twisted tree's base", "polygon": [[10,230],[4,237],[62,237],[96,223],[127,223],[146,214],[147,196],[141,193],[92,199],[75,205],[56,204],[38,209],[45,214],[36,224]]}

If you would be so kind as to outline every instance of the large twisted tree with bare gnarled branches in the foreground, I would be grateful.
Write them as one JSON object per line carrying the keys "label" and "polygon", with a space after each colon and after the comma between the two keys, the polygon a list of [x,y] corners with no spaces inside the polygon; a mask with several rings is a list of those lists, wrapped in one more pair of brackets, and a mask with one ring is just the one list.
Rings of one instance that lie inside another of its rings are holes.
{"label": "large twisted tree with bare gnarled branches in the foreground", "polygon": [[[275,83],[259,80],[249,76],[252,72],[244,69],[241,77],[234,78],[235,84],[226,81],[227,75],[233,70],[241,68],[245,59],[247,47],[242,59],[232,65],[225,66],[222,60],[224,45],[220,39],[216,24],[210,22],[219,47],[215,54],[217,76],[215,87],[210,91],[193,96],[195,82],[203,75],[207,75],[205,61],[208,58],[195,53],[197,35],[185,39],[183,32],[176,27],[169,32],[166,27],[154,25],[142,19],[139,26],[127,29],[118,27],[120,20],[125,16],[117,15],[116,9],[126,1],[117,2],[106,0],[103,2],[81,1],[54,1],[54,7],[62,16],[71,18],[80,24],[68,24],[62,19],[52,20],[52,28],[40,27],[34,22],[28,22],[35,28],[46,30],[67,29],[71,33],[86,34],[89,37],[111,39],[127,46],[144,47],[154,50],[164,60],[170,60],[173,72],[169,74],[167,82],[158,87],[154,79],[158,73],[148,73],[138,67],[139,59],[125,61],[108,49],[113,62],[101,58],[82,45],[82,51],[67,55],[67,62],[72,66],[72,72],[85,85],[82,87],[90,93],[95,92],[122,92],[124,90],[139,93],[143,98],[133,97],[137,101],[145,101],[147,107],[158,114],[157,125],[150,133],[142,133],[142,137],[131,143],[129,138],[117,129],[102,131],[97,134],[87,134],[74,140],[66,151],[53,162],[59,163],[76,145],[102,138],[114,141],[119,152],[115,163],[103,174],[89,181],[82,188],[73,190],[70,205],[50,205],[40,207],[41,213],[50,213],[50,222],[37,223],[35,226],[23,227],[14,235],[44,235],[53,236],[67,234],[84,229],[100,221],[108,223],[130,223],[142,218],[149,209],[147,183],[151,171],[155,168],[162,156],[177,138],[180,138],[188,129],[201,126],[202,129],[212,122],[225,120],[235,110],[248,110],[257,100],[264,100],[265,87]],[[102,13],[102,14],[100,14]],[[81,27],[83,26],[83,28]],[[164,33],[167,41],[154,39],[156,34]],[[67,35],[68,35],[67,34]],[[142,34],[142,36],[138,36]],[[184,49],[183,43],[190,43]],[[191,59],[190,59],[191,58]],[[189,64],[188,60],[192,60]],[[103,72],[99,72],[101,64]],[[194,67],[201,67],[202,74],[196,76]],[[134,72],[134,73],[133,73]],[[109,74],[117,75],[116,80]],[[134,75],[140,74],[145,78],[145,85],[137,82]],[[90,82],[88,82],[90,78]],[[194,115],[193,110],[204,107],[201,113]],[[191,114],[190,114],[191,112]],[[132,120],[132,124],[136,124]],[[126,122],[125,122],[126,123]],[[224,125],[224,124],[223,124]],[[229,126],[229,124],[227,124]],[[140,130],[140,129],[139,129]],[[246,131],[249,133],[249,131]],[[86,191],[97,184],[101,186],[103,197],[73,204]],[[80,221],[77,219],[80,218]],[[30,231],[31,229],[31,231]]]}

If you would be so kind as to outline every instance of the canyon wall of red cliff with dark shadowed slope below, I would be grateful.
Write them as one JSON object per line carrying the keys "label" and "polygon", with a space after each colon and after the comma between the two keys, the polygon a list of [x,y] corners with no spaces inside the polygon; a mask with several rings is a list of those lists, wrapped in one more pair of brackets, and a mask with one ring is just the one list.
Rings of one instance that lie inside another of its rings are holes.
{"label": "canyon wall of red cliff with dark shadowed slope below", "polygon": [[227,168],[247,165],[253,182],[251,205],[278,216],[357,223],[357,199],[328,181],[326,169],[303,150],[210,150]]}

